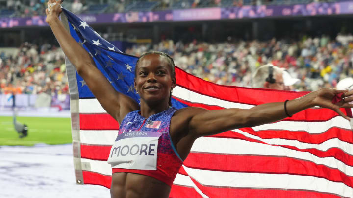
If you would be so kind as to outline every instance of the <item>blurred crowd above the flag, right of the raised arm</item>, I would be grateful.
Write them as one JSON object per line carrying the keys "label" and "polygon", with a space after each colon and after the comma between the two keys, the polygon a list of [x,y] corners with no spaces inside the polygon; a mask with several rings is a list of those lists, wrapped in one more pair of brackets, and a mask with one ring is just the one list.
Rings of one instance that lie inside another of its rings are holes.
{"label": "blurred crowd above the flag, right of the raised arm", "polygon": [[163,51],[176,66],[217,84],[251,87],[252,73],[258,66],[272,63],[301,79],[295,90],[310,91],[335,87],[337,81],[353,74],[353,36],[303,37],[300,41],[238,41],[211,44],[194,41],[163,41],[159,44],[134,45],[127,54]]}

